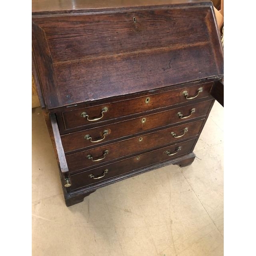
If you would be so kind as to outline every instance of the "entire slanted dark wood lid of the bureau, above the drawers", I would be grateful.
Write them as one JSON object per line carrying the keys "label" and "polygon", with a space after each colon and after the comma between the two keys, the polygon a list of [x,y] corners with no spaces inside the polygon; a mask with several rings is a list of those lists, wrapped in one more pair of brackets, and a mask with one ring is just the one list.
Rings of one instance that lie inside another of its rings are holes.
{"label": "entire slanted dark wood lid of the bureau, above the drawers", "polygon": [[174,7],[34,17],[33,48],[46,107],[223,76],[212,5]]}

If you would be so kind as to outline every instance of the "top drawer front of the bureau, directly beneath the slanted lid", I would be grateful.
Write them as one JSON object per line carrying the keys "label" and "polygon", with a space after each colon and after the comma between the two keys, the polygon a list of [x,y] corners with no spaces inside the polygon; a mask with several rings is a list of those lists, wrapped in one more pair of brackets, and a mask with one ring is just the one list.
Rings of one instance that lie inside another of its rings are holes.
{"label": "top drawer front of the bureau, directly beneath the slanted lid", "polygon": [[68,130],[87,125],[96,126],[101,121],[208,97],[211,86],[212,82],[197,84],[196,86],[183,87],[182,89],[163,93],[148,94],[138,98],[65,111],[62,112],[64,129]]}

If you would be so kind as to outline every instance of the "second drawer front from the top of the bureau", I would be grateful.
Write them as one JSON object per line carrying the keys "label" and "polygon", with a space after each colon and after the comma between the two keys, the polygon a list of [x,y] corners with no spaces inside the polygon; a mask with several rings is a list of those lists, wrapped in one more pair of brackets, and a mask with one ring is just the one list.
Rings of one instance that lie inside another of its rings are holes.
{"label": "second drawer front from the top of the bureau", "polygon": [[[207,100],[172,110],[99,126],[94,129],[62,135],[62,145],[64,151],[67,153],[79,150],[80,148],[94,147],[106,141],[157,129],[165,125],[201,117],[208,113],[212,102],[213,100]],[[195,112],[193,112],[193,110],[195,110]]]}

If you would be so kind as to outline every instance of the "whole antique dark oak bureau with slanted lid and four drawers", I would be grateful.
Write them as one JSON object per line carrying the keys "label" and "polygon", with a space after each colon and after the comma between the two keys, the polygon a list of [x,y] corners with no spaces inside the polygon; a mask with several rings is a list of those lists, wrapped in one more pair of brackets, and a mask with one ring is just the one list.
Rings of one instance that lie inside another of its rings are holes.
{"label": "whole antique dark oak bureau with slanted lid and four drawers", "polygon": [[33,0],[32,57],[67,206],[195,159],[223,79],[210,1]]}

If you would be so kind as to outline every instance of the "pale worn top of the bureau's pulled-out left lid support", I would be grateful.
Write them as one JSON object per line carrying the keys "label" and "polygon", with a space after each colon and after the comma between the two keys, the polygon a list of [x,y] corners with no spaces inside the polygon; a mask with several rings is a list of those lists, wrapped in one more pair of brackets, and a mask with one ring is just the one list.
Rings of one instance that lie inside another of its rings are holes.
{"label": "pale worn top of the bureau's pulled-out left lid support", "polygon": [[50,115],[50,121],[52,124],[52,131],[53,131],[56,150],[57,150],[58,159],[59,159],[59,167],[60,167],[60,170],[62,173],[67,173],[67,172],[69,172],[69,168],[68,168],[65,153],[64,153],[64,150],[62,147],[57,120],[56,120],[56,117],[54,114]]}

